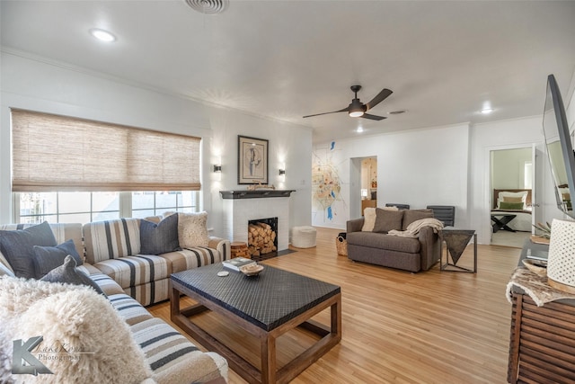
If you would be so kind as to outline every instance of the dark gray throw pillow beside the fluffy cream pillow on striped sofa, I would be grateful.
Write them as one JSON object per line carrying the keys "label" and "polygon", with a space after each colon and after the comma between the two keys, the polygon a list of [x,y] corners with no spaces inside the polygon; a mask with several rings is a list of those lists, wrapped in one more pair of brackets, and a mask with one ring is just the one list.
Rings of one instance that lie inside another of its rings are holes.
{"label": "dark gray throw pillow beside the fluffy cream pillow on striped sofa", "polygon": [[178,215],[170,215],[159,223],[140,221],[140,254],[161,255],[180,249]]}

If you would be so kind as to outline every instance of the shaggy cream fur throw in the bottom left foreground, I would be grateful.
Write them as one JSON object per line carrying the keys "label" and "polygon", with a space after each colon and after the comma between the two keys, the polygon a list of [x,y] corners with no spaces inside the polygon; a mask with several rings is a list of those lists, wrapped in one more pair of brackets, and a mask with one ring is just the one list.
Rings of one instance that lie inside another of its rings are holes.
{"label": "shaggy cream fur throw in the bottom left foreground", "polygon": [[[152,371],[128,325],[92,288],[0,277],[0,382],[140,383]],[[13,341],[42,336],[31,355],[53,374],[13,374]]]}

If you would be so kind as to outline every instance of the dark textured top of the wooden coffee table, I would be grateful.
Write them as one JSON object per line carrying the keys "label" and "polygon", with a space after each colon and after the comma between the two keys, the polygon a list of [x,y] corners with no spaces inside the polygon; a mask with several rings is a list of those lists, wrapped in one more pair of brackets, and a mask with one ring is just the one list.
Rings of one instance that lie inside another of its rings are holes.
{"label": "dark textured top of the wooden coffee table", "polygon": [[[220,271],[229,275],[219,277]],[[172,280],[267,331],[341,292],[337,285],[268,265],[257,276],[245,276],[216,263],[173,273]]]}

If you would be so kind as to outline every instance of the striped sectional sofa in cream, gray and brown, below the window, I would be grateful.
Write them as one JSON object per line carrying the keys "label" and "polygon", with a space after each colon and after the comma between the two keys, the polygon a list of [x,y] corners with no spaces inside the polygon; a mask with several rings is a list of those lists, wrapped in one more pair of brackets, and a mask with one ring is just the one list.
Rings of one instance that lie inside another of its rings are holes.
{"label": "striped sectional sofa in cream, gray and brown, below the window", "polygon": [[[78,269],[88,274],[128,324],[146,356],[157,383],[227,382],[226,359],[201,352],[188,338],[144,306],[168,299],[170,274],[226,260],[229,240],[210,237],[208,247],[183,249],[163,255],[139,255],[139,219],[115,219],[81,224],[50,224],[57,243],[73,239],[85,262]],[[0,225],[0,230],[31,225]],[[0,254],[4,271],[11,267]],[[0,271],[0,275],[5,274]],[[147,383],[147,381],[146,381]]]}

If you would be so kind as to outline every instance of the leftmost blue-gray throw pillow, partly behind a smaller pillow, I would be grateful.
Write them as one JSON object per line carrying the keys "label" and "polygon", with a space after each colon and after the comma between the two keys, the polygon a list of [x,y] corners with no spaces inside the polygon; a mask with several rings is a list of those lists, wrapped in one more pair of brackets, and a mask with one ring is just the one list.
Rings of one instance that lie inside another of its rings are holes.
{"label": "leftmost blue-gray throw pillow, partly behind a smaller pillow", "polygon": [[36,277],[34,246],[57,246],[48,221],[26,229],[0,230],[0,250],[16,277]]}

